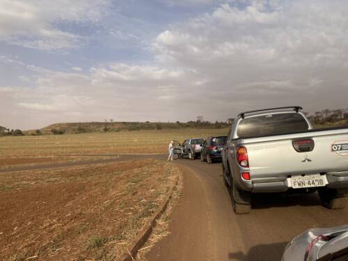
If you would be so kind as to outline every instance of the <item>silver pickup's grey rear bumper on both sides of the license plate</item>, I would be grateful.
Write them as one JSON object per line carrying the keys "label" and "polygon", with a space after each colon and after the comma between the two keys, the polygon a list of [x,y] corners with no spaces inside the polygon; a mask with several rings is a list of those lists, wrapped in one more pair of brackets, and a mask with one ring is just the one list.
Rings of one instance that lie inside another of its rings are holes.
{"label": "silver pickup's grey rear bumper on both sides of the license plate", "polygon": [[[330,189],[348,189],[348,171],[326,173],[326,179],[326,187]],[[285,192],[291,189],[287,177],[264,177],[251,181],[243,180],[242,183],[242,189],[253,193]]]}

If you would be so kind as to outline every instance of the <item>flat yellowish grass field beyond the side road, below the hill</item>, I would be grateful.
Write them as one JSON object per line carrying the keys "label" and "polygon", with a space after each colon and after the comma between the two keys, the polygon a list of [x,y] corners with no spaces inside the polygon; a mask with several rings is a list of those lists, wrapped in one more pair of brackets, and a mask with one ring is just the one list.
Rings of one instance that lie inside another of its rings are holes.
{"label": "flat yellowish grass field beyond the side road, below the hill", "polygon": [[65,154],[167,153],[171,140],[226,135],[228,129],[179,129],[0,138],[0,157],[62,156]]}

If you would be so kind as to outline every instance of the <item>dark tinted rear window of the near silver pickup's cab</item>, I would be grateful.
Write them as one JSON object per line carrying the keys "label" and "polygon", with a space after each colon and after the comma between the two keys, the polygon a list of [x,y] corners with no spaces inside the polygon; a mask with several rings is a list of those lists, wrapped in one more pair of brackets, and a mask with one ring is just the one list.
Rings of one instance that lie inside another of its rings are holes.
{"label": "dark tinted rear window of the near silver pickup's cab", "polygon": [[239,138],[255,138],[258,136],[275,136],[290,134],[308,129],[308,123],[299,113],[267,114],[244,118],[239,122],[237,135]]}

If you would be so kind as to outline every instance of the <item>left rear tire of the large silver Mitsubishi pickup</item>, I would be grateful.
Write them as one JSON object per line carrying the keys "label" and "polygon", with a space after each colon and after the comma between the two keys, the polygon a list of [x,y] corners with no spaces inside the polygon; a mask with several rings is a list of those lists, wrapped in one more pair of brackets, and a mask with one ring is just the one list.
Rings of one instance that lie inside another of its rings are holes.
{"label": "left rear tire of the large silver Mitsubishi pickup", "polygon": [[251,193],[240,191],[232,182],[230,187],[232,208],[235,214],[248,214],[251,210]]}

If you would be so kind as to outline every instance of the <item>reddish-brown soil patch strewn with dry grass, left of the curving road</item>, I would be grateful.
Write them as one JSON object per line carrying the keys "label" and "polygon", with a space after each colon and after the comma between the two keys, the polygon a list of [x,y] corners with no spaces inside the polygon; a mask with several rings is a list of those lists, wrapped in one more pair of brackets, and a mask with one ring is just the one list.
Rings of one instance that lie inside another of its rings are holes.
{"label": "reddish-brown soil patch strewn with dry grass, left of the curving road", "polygon": [[155,159],[0,175],[1,260],[113,260],[180,171]]}

